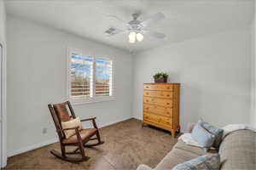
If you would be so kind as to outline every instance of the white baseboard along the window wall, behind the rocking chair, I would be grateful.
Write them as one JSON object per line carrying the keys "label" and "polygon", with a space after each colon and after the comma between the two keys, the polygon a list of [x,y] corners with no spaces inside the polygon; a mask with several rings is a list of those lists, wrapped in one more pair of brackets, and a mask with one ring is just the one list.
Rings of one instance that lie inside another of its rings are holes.
{"label": "white baseboard along the window wall, behind the rocking chair", "polygon": [[[115,123],[118,123],[118,122],[123,122],[123,121],[126,121],[126,120],[129,120],[131,119],[132,117],[126,117],[124,119],[121,119],[119,121],[115,121],[115,122],[110,122],[110,123],[106,123],[106,124],[103,124],[102,126],[100,127],[108,127],[109,125],[113,125]],[[16,156],[16,155],[19,155],[19,154],[22,154],[24,152],[27,152],[27,151],[30,151],[30,150],[36,150],[38,148],[41,148],[45,145],[49,145],[49,144],[54,144],[56,142],[58,142],[59,139],[58,138],[55,138],[55,139],[49,139],[47,141],[44,141],[42,143],[39,143],[39,144],[32,144],[31,146],[28,146],[26,148],[23,148],[23,149],[20,149],[20,150],[15,150],[15,151],[10,151],[7,156],[10,157],[10,156]]]}

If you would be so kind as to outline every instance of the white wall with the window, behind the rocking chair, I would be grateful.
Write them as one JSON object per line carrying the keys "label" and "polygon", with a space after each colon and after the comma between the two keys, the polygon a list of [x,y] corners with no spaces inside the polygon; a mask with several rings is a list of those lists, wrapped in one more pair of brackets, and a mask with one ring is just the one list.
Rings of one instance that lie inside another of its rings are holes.
{"label": "white wall with the window, behind the rocking chair", "polygon": [[131,54],[9,15],[7,28],[9,156],[55,139],[47,105],[67,99],[67,47],[115,57],[116,99],[75,105],[76,115],[96,116],[100,127],[131,118]]}

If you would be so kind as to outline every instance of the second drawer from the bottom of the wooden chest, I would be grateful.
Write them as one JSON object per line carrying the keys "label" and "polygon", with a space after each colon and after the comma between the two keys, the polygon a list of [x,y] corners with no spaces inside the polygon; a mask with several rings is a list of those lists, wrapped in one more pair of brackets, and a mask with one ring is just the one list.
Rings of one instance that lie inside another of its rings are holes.
{"label": "second drawer from the bottom of the wooden chest", "polygon": [[172,117],[172,108],[170,107],[163,107],[158,105],[143,105],[143,111],[154,113],[160,116],[169,116]]}

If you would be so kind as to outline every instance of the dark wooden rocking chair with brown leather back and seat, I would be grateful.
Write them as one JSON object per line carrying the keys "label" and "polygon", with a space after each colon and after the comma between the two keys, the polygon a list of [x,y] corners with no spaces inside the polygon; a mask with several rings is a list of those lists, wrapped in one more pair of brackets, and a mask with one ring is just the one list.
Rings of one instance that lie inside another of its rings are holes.
{"label": "dark wooden rocking chair with brown leather back and seat", "polygon": [[[71,116],[68,114],[67,106],[70,110]],[[67,122],[71,118],[76,118],[70,102],[67,101],[61,104],[48,105],[48,107],[53,121],[55,122],[56,131],[61,144],[61,153],[56,150],[51,150],[50,153],[64,161],[87,161],[90,157],[85,156],[84,147],[96,146],[104,143],[104,141],[101,140],[99,129],[96,126],[96,117],[81,120],[81,122],[92,121],[93,128],[83,128],[82,130],[79,130],[79,127],[73,127],[63,129],[61,127],[61,122]],[[73,136],[66,138],[64,131],[71,129],[74,129],[76,133]],[[96,138],[92,138],[95,135]],[[97,143],[86,144],[90,140],[97,140]],[[77,146],[77,149],[67,152],[66,146]],[[81,158],[69,157],[67,156],[69,154],[79,154],[81,155]]]}

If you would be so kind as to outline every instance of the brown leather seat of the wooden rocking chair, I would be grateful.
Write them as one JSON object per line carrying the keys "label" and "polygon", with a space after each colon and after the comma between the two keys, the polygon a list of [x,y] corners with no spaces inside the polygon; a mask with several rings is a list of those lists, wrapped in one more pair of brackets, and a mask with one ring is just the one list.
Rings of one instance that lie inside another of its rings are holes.
{"label": "brown leather seat of the wooden rocking chair", "polygon": [[[82,129],[79,131],[79,134],[81,136],[81,139],[83,141],[86,141],[90,139],[93,135],[95,135],[97,129],[96,128],[87,128],[87,129]],[[73,134],[73,136],[69,137],[68,139],[63,139],[64,144],[74,144],[74,143],[79,143],[78,136],[76,134]]]}

